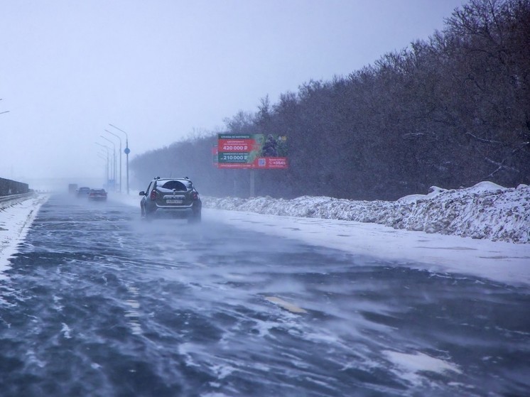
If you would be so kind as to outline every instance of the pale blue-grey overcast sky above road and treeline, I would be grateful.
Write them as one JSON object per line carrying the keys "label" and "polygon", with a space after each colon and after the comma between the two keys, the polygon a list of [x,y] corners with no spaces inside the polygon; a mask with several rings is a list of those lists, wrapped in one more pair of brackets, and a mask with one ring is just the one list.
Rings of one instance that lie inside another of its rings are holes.
{"label": "pale blue-grey overcast sky above road and treeline", "polygon": [[0,0],[0,177],[104,175],[94,142],[118,149],[109,129],[125,146],[109,124],[129,158],[222,129],[428,38],[465,3]]}

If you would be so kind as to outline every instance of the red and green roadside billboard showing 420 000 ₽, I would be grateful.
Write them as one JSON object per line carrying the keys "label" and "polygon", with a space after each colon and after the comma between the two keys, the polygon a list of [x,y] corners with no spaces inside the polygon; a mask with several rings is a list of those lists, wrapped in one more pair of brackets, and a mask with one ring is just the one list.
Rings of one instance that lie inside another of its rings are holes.
{"label": "red and green roadside billboard showing 420 000 \u20bd", "polygon": [[217,168],[288,168],[287,137],[275,134],[219,134]]}

